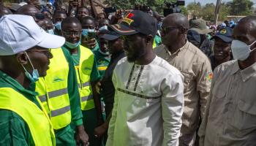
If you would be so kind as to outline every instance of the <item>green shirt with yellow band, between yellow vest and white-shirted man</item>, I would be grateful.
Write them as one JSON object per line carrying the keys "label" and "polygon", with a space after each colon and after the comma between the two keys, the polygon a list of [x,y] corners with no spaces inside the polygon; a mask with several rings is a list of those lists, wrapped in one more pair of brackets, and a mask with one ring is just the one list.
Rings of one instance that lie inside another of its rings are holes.
{"label": "green shirt with yellow band, between yellow vest and white-shirted man", "polygon": [[94,56],[97,63],[97,70],[99,71],[100,79],[104,77],[105,71],[110,63],[110,55],[104,55],[99,50],[94,51]]}

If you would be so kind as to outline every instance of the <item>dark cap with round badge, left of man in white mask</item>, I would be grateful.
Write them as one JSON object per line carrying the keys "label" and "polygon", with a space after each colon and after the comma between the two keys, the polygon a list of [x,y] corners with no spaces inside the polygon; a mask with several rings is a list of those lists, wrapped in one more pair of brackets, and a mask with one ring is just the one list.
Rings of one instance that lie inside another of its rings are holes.
{"label": "dark cap with round badge, left of man in white mask", "polygon": [[232,33],[233,33],[232,28],[229,28],[229,27],[221,28],[219,32],[217,32],[215,36],[212,37],[211,39],[216,39],[218,37],[219,39],[222,39],[222,41],[230,43],[233,41]]}

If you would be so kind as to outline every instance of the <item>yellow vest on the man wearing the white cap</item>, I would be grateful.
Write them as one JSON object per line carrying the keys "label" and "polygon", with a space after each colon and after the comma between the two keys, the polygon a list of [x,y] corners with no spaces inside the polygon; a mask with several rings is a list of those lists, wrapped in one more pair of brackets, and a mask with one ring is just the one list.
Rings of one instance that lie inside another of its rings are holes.
{"label": "yellow vest on the man wearing the white cap", "polygon": [[[40,101],[39,104],[42,107]],[[29,126],[34,145],[55,145],[53,126],[43,107],[40,110],[36,104],[12,88],[0,88],[0,109],[11,110],[20,115]]]}

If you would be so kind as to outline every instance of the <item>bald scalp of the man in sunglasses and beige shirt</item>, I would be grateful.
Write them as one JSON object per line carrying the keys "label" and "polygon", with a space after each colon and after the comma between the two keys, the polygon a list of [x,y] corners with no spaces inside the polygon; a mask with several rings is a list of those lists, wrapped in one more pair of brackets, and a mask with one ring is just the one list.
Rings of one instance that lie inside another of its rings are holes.
{"label": "bald scalp of the man in sunglasses and beige shirt", "polygon": [[181,13],[173,13],[173,14],[167,15],[163,23],[167,25],[171,24],[174,26],[182,26],[187,30],[189,29],[189,21],[187,20],[187,17]]}

